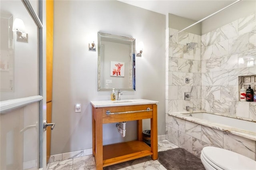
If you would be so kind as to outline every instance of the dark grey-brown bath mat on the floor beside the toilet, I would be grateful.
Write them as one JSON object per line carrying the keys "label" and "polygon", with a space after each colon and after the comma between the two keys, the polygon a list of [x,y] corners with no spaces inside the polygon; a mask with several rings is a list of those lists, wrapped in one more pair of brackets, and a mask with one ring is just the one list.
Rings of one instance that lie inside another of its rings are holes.
{"label": "dark grey-brown bath mat on the floor beside the toilet", "polygon": [[183,148],[158,152],[158,161],[167,170],[205,170],[200,158]]}

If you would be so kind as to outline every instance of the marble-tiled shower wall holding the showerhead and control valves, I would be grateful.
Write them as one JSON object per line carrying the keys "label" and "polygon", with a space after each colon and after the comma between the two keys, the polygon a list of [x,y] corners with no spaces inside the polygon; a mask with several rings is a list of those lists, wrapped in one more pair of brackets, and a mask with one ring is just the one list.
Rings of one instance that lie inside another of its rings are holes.
{"label": "marble-tiled shower wall holding the showerhead and control valves", "polygon": [[[166,32],[166,113],[184,111],[186,106],[201,109],[201,36],[181,32],[170,38],[176,32],[172,28]],[[190,42],[198,45],[187,49]],[[191,93],[190,100],[184,100],[185,92]]]}

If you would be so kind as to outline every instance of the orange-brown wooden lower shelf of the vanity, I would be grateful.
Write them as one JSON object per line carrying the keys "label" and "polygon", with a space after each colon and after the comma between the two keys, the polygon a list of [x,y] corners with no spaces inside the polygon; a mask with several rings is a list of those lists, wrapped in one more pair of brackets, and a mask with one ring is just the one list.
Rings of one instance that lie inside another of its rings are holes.
{"label": "orange-brown wooden lower shelf of the vanity", "polygon": [[152,155],[150,146],[138,140],[103,146],[103,167]]}

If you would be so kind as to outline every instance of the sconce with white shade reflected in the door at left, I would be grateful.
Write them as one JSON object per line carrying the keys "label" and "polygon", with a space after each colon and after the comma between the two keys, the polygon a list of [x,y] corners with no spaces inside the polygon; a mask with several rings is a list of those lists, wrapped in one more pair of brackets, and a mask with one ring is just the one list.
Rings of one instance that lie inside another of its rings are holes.
{"label": "sconce with white shade reflected in the door at left", "polygon": [[25,33],[25,30],[24,22],[16,18],[13,22],[12,31],[16,32],[18,42],[28,42],[28,34]]}

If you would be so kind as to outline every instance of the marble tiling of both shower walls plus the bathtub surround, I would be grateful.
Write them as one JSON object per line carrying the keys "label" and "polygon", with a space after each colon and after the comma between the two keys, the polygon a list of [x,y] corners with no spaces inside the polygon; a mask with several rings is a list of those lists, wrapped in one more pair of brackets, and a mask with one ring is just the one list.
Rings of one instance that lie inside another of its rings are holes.
{"label": "marble tiling of both shower walls plus the bathtub surround", "polygon": [[[202,36],[183,32],[170,38],[175,32],[172,28],[166,31],[166,139],[196,156],[204,146],[216,146],[255,160],[255,134],[245,138],[171,114],[190,106],[195,111],[256,122],[256,103],[239,101],[241,77],[256,75],[256,14]],[[188,50],[186,43],[190,42],[198,47]],[[191,100],[184,100],[185,92],[191,92]]]}

